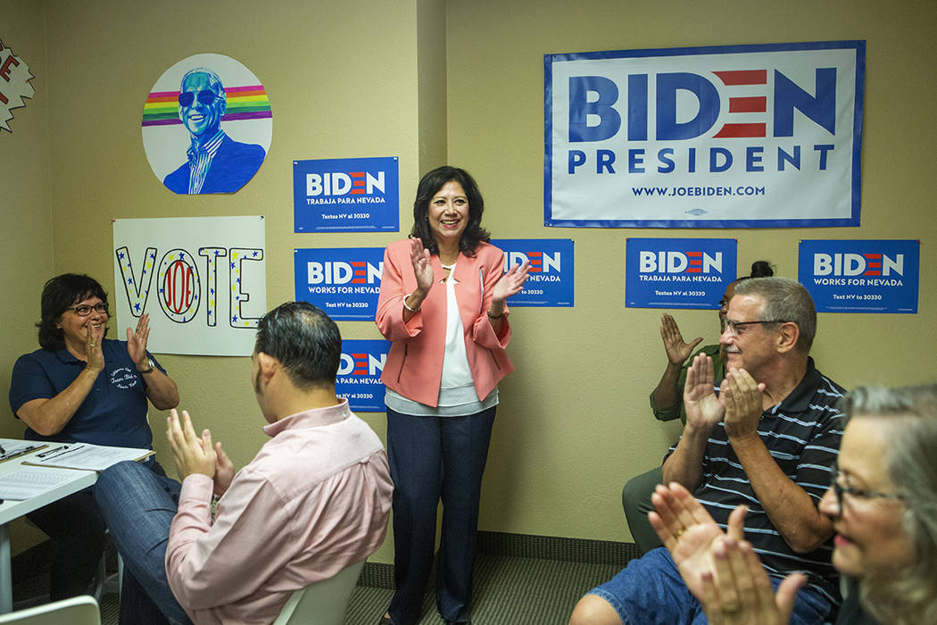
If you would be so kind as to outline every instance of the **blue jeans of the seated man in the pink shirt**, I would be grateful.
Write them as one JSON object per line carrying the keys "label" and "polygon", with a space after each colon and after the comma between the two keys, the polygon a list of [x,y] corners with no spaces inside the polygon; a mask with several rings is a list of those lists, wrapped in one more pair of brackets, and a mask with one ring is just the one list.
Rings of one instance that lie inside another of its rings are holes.
{"label": "blue jeans of the seated man in the pink shirt", "polygon": [[97,478],[98,508],[124,558],[122,624],[191,622],[166,579],[166,545],[181,488],[136,462],[118,463]]}

